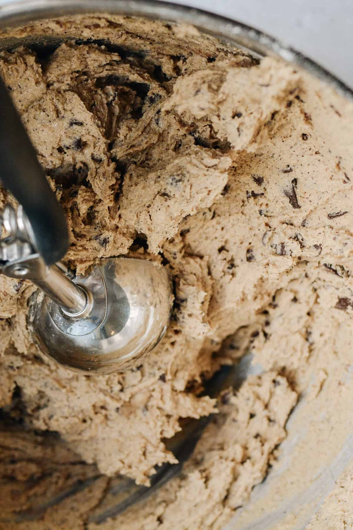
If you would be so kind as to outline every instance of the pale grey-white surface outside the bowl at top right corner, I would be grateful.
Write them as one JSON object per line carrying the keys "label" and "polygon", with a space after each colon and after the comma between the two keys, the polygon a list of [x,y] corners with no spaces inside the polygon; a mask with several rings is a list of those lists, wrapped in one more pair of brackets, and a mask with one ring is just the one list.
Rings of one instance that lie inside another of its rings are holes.
{"label": "pale grey-white surface outside the bowl at top right corner", "polygon": [[352,0],[170,0],[271,34],[353,88]]}

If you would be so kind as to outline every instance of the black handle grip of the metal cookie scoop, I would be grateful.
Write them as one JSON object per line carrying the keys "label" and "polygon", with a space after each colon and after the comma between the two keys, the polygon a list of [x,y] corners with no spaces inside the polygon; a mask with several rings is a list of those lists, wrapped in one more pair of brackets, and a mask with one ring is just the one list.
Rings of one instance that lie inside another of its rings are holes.
{"label": "black handle grip of the metal cookie scoop", "polygon": [[44,261],[52,265],[61,260],[69,245],[65,214],[1,78],[0,180],[23,206]]}

